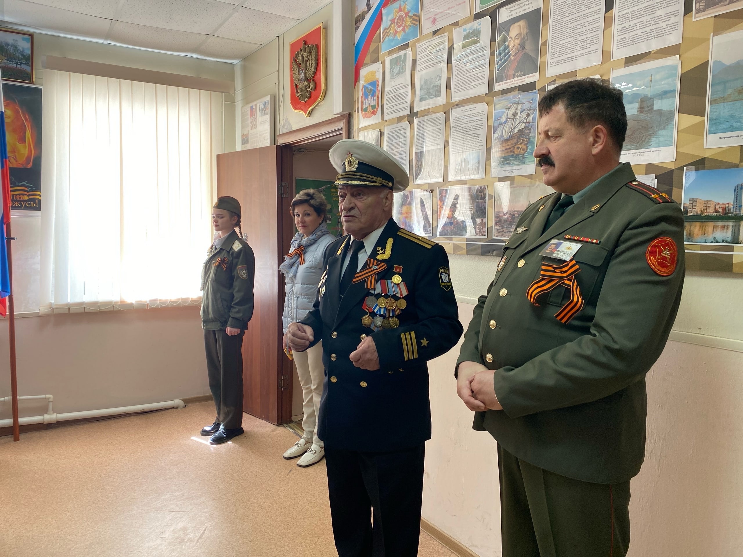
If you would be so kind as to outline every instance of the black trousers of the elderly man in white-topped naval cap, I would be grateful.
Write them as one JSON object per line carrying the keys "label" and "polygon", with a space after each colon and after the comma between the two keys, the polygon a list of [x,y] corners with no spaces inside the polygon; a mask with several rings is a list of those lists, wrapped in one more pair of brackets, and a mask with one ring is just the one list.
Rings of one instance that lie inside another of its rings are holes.
{"label": "black trousers of the elderly man in white-topped naval cap", "polygon": [[340,557],[418,555],[425,452],[425,443],[392,452],[325,448],[331,518]]}

